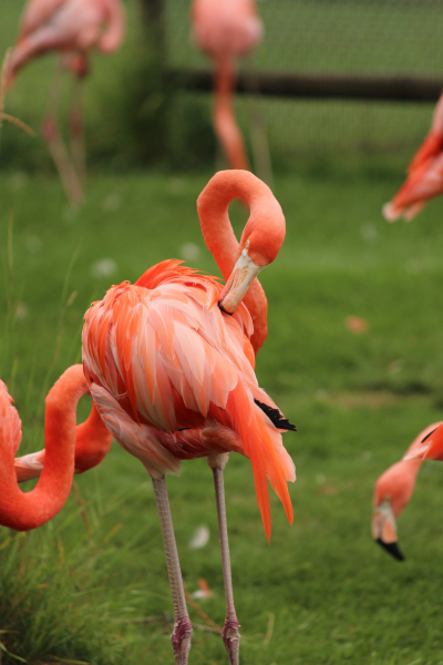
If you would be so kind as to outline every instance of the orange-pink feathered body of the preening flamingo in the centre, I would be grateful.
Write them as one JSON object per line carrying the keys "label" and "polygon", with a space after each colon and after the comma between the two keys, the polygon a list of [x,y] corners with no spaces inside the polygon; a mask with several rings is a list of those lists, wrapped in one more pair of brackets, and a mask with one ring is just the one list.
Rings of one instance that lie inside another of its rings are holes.
{"label": "orange-pink feathered body of the preening flamingo in the centre", "polygon": [[286,482],[295,468],[254,401],[277,408],[254,374],[249,313],[220,311],[220,291],[174,260],[112,287],[85,315],[84,372],[102,420],[154,478],[177,473],[184,459],[248,457],[269,536],[267,478],[291,521]]}

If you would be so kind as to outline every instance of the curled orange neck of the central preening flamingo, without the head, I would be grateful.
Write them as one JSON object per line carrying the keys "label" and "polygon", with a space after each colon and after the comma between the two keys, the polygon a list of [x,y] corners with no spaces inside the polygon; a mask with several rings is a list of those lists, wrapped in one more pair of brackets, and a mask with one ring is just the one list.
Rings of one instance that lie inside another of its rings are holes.
{"label": "curled orange neck of the central preening flamingo, without the head", "polygon": [[[197,201],[197,211],[206,246],[214,256],[225,282],[229,278],[243,246],[238,243],[229,221],[228,207],[234,198],[243,198],[250,208],[246,228],[259,225],[264,198],[270,190],[248,171],[219,171],[206,185]],[[243,234],[244,238],[245,232]],[[244,243],[243,243],[244,244]],[[255,354],[260,350],[267,334],[268,301],[255,279],[244,298],[254,324],[250,338]]]}

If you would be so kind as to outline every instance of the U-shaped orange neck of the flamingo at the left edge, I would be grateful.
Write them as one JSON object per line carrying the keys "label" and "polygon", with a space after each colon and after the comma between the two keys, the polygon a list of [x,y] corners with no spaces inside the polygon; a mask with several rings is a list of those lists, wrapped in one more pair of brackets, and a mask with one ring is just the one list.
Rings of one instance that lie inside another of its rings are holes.
{"label": "U-shaped orange neck of the flamingo at the left edge", "polygon": [[[83,367],[75,365],[56,381],[45,399],[44,467],[31,492],[23,493],[4,429],[0,430],[0,523],[29,531],[51,520],[63,507],[74,473],[75,410],[87,392]],[[4,398],[3,398],[4,399]],[[12,410],[13,407],[9,405]],[[18,418],[18,417],[17,417]]]}

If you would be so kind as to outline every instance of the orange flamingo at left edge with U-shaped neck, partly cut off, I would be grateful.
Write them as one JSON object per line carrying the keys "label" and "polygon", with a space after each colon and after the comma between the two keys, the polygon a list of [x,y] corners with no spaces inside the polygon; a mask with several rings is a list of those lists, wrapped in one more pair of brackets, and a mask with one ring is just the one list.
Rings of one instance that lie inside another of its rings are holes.
{"label": "orange flamingo at left edge with U-shaped neck, partly cut off", "polygon": [[[86,439],[103,438],[102,449],[111,437],[94,410],[83,426],[75,427],[76,405],[89,391],[81,365],[66,369],[48,393],[44,420],[44,466],[31,492],[17,484],[14,454],[21,441],[21,422],[12,398],[0,381],[0,524],[16,531],[29,531],[51,520],[64,505],[72,484],[75,441],[80,448]],[[104,457],[104,456],[103,456]],[[90,460],[91,461],[91,460]],[[25,480],[25,478],[22,478]]]}

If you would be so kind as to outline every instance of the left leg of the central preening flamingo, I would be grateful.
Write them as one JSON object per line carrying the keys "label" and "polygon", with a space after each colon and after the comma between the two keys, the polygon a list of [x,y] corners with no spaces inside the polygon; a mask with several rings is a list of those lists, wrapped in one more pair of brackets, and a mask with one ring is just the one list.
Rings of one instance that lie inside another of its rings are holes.
{"label": "left leg of the central preening flamingo", "polygon": [[183,586],[173,519],[167,497],[166,479],[162,475],[159,479],[153,478],[152,481],[154,485],[155,503],[157,504],[158,518],[162,526],[167,573],[169,575],[174,604],[174,631],[171,638],[174,658],[176,665],[187,665],[193,626],[186,607],[185,590]]}

